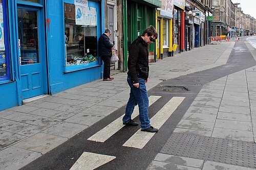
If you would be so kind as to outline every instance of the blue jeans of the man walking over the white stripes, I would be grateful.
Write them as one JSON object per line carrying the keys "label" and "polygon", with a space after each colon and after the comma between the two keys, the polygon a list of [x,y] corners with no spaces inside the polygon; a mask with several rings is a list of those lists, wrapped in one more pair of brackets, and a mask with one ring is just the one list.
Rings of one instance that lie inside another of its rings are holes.
{"label": "blue jeans of the man walking over the white stripes", "polygon": [[125,115],[123,116],[123,123],[127,123],[131,120],[134,107],[138,104],[141,129],[147,129],[151,127],[151,125],[150,118],[148,117],[148,96],[145,80],[139,78],[139,88],[133,86],[131,76],[127,77],[127,82],[131,91],[129,101],[126,105]]}

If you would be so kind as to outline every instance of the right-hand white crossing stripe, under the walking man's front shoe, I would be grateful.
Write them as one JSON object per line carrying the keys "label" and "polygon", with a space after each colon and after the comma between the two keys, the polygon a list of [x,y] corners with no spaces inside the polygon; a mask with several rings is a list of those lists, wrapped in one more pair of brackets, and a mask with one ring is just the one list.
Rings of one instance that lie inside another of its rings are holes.
{"label": "right-hand white crossing stripe, under the walking man's front shoe", "polygon": [[[177,107],[184,100],[184,97],[173,97],[159,110],[151,119],[151,125],[154,128],[160,129],[166,120],[173,114]],[[123,146],[142,149],[155,133],[143,132],[140,129],[128,139]]]}

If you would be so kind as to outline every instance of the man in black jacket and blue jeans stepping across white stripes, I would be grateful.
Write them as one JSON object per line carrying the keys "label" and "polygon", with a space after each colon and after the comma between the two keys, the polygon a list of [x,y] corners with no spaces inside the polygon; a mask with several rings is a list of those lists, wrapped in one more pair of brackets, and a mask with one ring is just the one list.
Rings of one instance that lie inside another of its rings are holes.
{"label": "man in black jacket and blue jeans stepping across white stripes", "polygon": [[148,45],[155,42],[157,32],[153,26],[146,28],[141,36],[133,41],[129,48],[127,82],[131,88],[130,98],[127,102],[125,115],[123,116],[123,125],[138,126],[137,122],[132,120],[134,107],[139,105],[139,118],[141,131],[157,132],[153,128],[148,117],[148,96],[146,83],[148,81]]}

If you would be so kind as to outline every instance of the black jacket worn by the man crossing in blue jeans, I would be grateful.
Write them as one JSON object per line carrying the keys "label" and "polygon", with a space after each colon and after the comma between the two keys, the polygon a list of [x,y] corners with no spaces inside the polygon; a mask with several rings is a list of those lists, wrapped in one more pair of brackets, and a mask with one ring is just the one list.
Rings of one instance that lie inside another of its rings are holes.
{"label": "black jacket worn by the man crossing in blue jeans", "polygon": [[138,36],[136,40],[133,41],[129,48],[129,58],[128,58],[128,69],[127,75],[132,77],[132,83],[139,83],[138,78],[147,80],[148,78],[148,50],[147,44],[141,36]]}

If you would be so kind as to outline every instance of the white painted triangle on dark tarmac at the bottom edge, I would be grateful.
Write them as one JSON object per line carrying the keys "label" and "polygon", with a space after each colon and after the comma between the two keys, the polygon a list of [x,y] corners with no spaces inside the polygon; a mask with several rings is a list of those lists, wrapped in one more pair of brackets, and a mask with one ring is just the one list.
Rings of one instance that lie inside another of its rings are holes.
{"label": "white painted triangle on dark tarmac at the bottom edge", "polygon": [[115,156],[83,152],[70,170],[91,170],[115,159]]}

